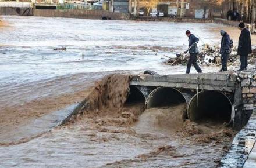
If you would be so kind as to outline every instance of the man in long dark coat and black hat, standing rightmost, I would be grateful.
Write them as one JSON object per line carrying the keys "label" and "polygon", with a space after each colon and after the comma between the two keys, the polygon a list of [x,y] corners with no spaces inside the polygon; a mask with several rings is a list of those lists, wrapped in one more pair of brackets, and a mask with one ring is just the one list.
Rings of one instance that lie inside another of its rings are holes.
{"label": "man in long dark coat and black hat, standing rightmost", "polygon": [[239,37],[237,54],[240,56],[241,65],[238,71],[244,71],[247,70],[248,54],[252,53],[251,34],[243,22],[239,24],[239,29],[241,30],[241,34]]}

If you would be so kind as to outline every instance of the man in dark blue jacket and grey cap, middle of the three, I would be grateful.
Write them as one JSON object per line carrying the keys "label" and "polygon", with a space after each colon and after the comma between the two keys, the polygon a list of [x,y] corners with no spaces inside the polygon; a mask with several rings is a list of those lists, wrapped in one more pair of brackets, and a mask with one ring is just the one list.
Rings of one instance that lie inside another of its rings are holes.
{"label": "man in dark blue jacket and grey cap, middle of the three", "polygon": [[224,31],[221,30],[221,50],[219,53],[221,53],[221,63],[222,63],[222,68],[219,72],[224,72],[227,71],[227,59],[229,59],[229,54],[231,53],[230,50],[230,37],[229,35]]}

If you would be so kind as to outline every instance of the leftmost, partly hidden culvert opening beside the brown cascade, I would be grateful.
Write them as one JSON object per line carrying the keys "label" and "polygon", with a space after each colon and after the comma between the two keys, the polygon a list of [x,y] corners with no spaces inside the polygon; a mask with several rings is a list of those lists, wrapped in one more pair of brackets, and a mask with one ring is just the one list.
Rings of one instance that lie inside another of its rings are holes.
{"label": "leftmost, partly hidden culvert opening beside the brown cascade", "polygon": [[126,103],[145,103],[144,94],[136,86],[129,87],[129,96],[126,100]]}

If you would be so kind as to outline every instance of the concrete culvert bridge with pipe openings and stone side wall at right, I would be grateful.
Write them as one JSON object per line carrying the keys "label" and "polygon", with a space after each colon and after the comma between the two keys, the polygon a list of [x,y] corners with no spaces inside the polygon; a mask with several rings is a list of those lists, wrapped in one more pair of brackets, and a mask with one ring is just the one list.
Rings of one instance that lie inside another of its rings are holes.
{"label": "concrete culvert bridge with pipe openings and stone side wall at right", "polygon": [[218,167],[255,167],[255,72],[133,76],[127,101],[142,101],[146,109],[186,103],[186,119],[232,125],[240,132]]}

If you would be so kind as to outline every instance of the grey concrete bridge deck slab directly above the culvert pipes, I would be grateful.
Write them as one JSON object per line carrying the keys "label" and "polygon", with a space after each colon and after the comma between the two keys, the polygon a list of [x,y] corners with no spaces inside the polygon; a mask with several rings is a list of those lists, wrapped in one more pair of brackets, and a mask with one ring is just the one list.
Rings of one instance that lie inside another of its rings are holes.
{"label": "grey concrete bridge deck slab directly above the culvert pipes", "polygon": [[133,76],[130,84],[234,92],[236,79],[237,75],[230,73],[145,75]]}

